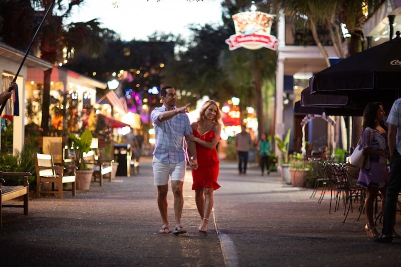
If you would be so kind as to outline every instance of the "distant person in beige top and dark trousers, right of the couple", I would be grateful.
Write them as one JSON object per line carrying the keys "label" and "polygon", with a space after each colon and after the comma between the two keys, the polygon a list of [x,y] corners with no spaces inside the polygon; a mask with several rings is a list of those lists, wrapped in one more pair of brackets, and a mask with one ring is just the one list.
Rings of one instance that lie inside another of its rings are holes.
{"label": "distant person in beige top and dark trousers, right of the couple", "polygon": [[248,154],[251,149],[252,138],[245,125],[241,125],[241,132],[236,134],[234,141],[238,156],[238,173],[239,175],[247,174]]}

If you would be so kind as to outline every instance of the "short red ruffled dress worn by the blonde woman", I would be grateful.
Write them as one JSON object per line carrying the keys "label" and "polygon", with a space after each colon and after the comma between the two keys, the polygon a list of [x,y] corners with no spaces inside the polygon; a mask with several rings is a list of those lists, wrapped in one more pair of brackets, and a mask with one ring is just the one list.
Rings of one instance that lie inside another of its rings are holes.
{"label": "short red ruffled dress worn by the blonde woman", "polygon": [[[213,129],[204,135],[200,135],[195,129],[193,130],[193,135],[206,142],[211,142],[215,138]],[[219,176],[220,160],[216,147],[209,149],[196,143],[196,158],[198,167],[196,170],[192,169],[192,190],[202,187],[211,187],[214,190],[219,189],[220,185],[217,183],[217,177]]]}

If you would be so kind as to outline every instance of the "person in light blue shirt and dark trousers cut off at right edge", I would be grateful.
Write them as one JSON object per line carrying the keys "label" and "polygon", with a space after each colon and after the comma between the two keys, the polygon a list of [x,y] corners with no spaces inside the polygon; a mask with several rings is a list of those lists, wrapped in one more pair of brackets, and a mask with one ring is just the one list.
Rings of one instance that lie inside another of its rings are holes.
{"label": "person in light blue shirt and dark trousers cut off at right edge", "polygon": [[387,185],[387,194],[384,202],[383,227],[381,235],[375,242],[390,243],[399,235],[394,232],[396,204],[401,189],[401,98],[392,104],[387,117],[388,124],[388,152],[390,157],[390,174]]}

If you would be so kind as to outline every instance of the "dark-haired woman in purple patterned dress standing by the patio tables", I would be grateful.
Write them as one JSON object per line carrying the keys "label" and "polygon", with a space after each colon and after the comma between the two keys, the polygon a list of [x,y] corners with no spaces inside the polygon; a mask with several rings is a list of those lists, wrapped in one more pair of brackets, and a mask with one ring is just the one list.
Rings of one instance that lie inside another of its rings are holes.
{"label": "dark-haired woman in purple patterned dress standing by the patio tables", "polygon": [[378,237],[374,226],[373,204],[378,192],[381,193],[381,210],[384,210],[384,199],[388,184],[387,168],[387,127],[384,124],[383,104],[373,102],[367,104],[363,111],[362,134],[360,146],[363,148],[364,162],[359,171],[357,184],[366,188],[365,214],[366,234]]}

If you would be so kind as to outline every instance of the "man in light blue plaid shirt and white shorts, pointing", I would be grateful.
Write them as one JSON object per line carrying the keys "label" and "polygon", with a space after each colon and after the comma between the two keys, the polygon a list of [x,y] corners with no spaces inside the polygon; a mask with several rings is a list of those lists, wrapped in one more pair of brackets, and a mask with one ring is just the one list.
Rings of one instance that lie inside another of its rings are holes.
{"label": "man in light blue plaid shirt and white shorts, pointing", "polygon": [[172,233],[186,233],[181,226],[181,214],[184,199],[182,186],[184,182],[186,161],[184,137],[188,144],[188,158],[191,158],[191,168],[197,168],[195,143],[186,137],[192,134],[189,118],[185,114],[189,104],[177,108],[175,89],[171,85],[164,86],[160,91],[163,105],[155,108],[151,118],[155,131],[155,145],[153,151],[154,184],[157,186],[157,205],[163,224],[159,233],[169,233],[167,216],[168,180],[171,177],[171,190],[174,195],[174,230]]}

